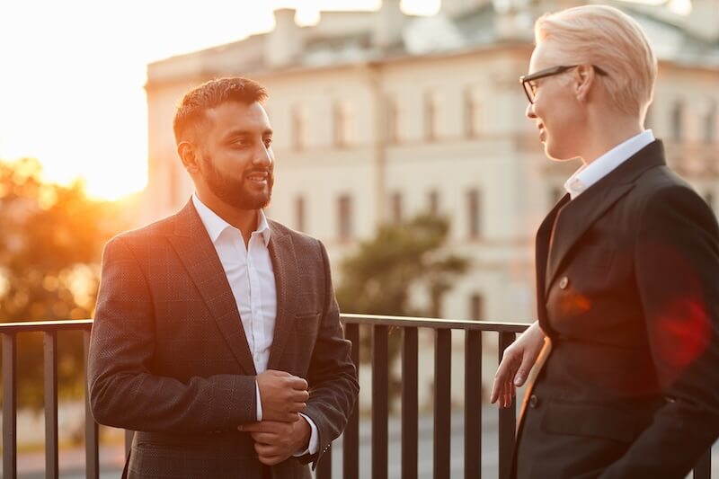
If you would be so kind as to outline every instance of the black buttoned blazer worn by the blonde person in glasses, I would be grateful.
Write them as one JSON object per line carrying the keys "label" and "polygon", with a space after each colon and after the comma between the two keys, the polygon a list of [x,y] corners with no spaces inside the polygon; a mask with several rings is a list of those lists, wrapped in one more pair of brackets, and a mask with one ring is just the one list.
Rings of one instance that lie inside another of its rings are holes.
{"label": "black buttoned blazer worn by the blonde person in glasses", "polygon": [[519,478],[683,478],[719,435],[719,227],[645,146],[537,232],[551,352],[528,389]]}

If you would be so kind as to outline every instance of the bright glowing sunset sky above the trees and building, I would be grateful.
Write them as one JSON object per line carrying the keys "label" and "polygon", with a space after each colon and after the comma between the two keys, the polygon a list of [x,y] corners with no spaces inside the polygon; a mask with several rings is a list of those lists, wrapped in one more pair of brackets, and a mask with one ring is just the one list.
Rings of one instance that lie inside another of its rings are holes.
{"label": "bright glowing sunset sky above the trees and building", "polygon": [[[682,1],[682,0],[675,0]],[[273,28],[272,10],[377,9],[380,0],[3,0],[0,159],[40,159],[95,198],[146,185],[146,64]],[[403,0],[432,14],[439,0]],[[170,125],[167,126],[171,128]]]}

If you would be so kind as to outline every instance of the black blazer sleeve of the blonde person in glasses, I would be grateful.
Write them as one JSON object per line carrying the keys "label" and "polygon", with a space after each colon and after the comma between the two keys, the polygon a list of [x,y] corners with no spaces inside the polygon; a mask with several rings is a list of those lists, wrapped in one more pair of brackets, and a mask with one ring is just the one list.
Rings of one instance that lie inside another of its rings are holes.
{"label": "black blazer sleeve of the blonde person in glasses", "polygon": [[600,476],[684,477],[719,435],[719,227],[684,186],[652,194],[635,244],[636,288],[667,403]]}

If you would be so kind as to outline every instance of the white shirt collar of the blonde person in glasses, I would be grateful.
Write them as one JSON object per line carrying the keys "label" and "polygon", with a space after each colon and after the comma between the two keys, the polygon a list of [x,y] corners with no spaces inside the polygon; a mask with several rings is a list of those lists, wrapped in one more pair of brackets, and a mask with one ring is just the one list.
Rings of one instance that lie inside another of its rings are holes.
{"label": "white shirt collar of the blonde person in glasses", "polygon": [[574,200],[581,195],[581,193],[587,191],[594,183],[599,182],[599,180],[614,171],[617,166],[626,162],[626,160],[635,155],[639,150],[644,148],[644,146],[652,143],[652,141],[654,141],[652,130],[645,129],[638,135],[613,147],[590,164],[582,164],[581,168],[574,172],[574,174],[569,177],[569,180],[564,182],[564,189],[569,193],[572,200]]}

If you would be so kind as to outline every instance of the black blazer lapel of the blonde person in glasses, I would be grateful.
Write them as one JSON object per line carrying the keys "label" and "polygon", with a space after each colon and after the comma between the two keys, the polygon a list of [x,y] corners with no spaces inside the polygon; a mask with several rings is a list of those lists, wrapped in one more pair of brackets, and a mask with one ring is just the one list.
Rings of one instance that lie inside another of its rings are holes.
{"label": "black blazer lapel of the blonde person in glasses", "polygon": [[599,182],[557,212],[546,262],[545,295],[567,254],[599,217],[634,188],[635,179],[654,166],[665,164],[661,141],[655,140],[617,166]]}

